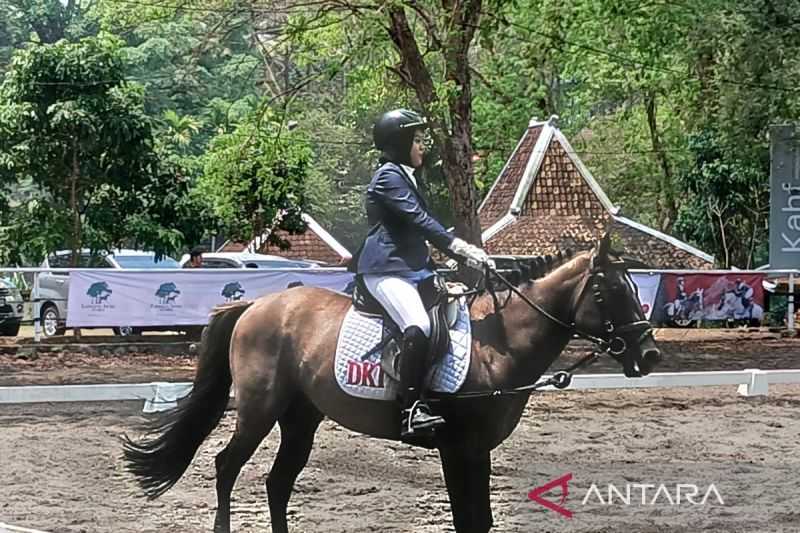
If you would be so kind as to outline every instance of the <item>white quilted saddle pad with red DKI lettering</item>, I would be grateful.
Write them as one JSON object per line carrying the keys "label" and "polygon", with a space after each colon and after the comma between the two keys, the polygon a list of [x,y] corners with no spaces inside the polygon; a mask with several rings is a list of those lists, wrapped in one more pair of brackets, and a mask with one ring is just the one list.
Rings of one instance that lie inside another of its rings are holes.
{"label": "white quilted saddle pad with red DKI lettering", "polygon": [[[383,319],[360,313],[351,306],[339,331],[334,367],[336,381],[347,394],[370,400],[388,401],[397,397],[399,384],[381,368],[381,350],[363,359],[382,338]],[[469,371],[471,347],[469,308],[462,298],[458,318],[450,329],[450,350],[431,369],[431,390],[452,393],[461,388]]]}

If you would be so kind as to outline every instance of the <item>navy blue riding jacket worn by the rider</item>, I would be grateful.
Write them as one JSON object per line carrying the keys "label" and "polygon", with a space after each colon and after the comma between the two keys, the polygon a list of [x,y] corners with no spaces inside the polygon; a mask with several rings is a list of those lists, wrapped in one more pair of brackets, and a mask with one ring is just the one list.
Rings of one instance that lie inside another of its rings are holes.
{"label": "navy blue riding jacket worn by the rider", "polygon": [[452,255],[453,235],[429,213],[425,199],[402,167],[385,163],[367,187],[371,226],[357,257],[357,274],[407,272],[430,263],[425,240]]}

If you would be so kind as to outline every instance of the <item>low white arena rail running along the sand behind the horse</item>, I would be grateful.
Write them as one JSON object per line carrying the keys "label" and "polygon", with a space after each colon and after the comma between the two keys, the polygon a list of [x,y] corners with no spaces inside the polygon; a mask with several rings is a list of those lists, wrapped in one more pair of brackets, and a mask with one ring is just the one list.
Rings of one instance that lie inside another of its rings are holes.
{"label": "low white arena rail running along the sand behind the horse", "polygon": [[[573,376],[572,384],[566,390],[736,385],[742,396],[764,396],[768,394],[770,384],[791,383],[800,383],[800,369],[663,372],[643,378],[626,378],[622,374],[579,374]],[[143,400],[144,411],[155,412],[174,407],[177,400],[191,389],[192,384],[187,382],[12,386],[0,387],[0,404]]]}

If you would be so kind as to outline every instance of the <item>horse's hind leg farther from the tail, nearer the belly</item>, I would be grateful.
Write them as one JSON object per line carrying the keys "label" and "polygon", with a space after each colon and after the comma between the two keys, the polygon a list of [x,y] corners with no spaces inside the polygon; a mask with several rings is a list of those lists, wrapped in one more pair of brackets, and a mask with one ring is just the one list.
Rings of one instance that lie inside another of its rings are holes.
{"label": "horse's hind leg farther from the tail, nearer the belly", "polygon": [[278,420],[281,446],[266,482],[272,533],[289,531],[286,507],[294,482],[308,462],[322,418],[322,413],[305,396],[298,395]]}

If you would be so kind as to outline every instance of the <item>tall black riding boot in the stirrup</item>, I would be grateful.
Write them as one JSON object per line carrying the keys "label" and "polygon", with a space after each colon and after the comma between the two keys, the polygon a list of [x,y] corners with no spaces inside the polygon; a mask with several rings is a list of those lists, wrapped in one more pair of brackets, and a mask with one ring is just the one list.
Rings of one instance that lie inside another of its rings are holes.
{"label": "tall black riding boot in the stirrup", "polygon": [[400,355],[403,422],[400,438],[404,441],[429,436],[434,428],[444,424],[444,419],[432,415],[428,405],[420,400],[428,370],[428,346],[428,338],[417,326],[411,326],[403,333],[403,353]]}

